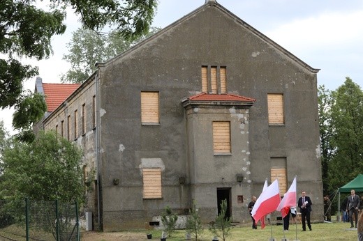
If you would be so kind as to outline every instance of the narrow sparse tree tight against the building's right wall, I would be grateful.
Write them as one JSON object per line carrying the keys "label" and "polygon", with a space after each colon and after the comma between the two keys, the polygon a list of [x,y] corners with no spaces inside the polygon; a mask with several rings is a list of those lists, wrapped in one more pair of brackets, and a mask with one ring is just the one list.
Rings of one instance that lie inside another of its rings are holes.
{"label": "narrow sparse tree tight against the building's right wall", "polygon": [[320,151],[323,179],[323,192],[329,194],[329,162],[332,160],[334,146],[334,128],[332,126],[332,96],[331,91],[326,90],[325,86],[318,88],[318,109],[319,109],[319,129],[320,129]]}

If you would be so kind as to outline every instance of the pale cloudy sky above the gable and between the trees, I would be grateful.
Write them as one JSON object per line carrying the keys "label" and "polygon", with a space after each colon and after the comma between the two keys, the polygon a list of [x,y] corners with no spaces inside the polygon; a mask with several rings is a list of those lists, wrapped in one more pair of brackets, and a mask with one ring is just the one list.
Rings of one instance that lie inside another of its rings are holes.
{"label": "pale cloudy sky above the gable and between the trees", "polygon": [[[217,0],[318,72],[318,85],[335,90],[346,77],[363,86],[363,1],[362,0]],[[205,0],[159,0],[153,26],[165,27],[202,6]],[[79,26],[68,14],[67,31],[52,40],[54,55],[39,66],[43,82],[58,83],[70,65],[62,60],[66,43]],[[34,91],[35,78],[27,81]],[[8,130],[11,111],[0,111]]]}

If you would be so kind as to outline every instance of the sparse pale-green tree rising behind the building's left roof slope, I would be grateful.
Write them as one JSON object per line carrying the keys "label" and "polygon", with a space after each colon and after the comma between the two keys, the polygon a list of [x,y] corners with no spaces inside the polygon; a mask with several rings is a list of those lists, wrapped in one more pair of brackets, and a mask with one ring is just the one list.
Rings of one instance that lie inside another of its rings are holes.
{"label": "sparse pale-green tree rising behind the building's left roof slope", "polygon": [[124,38],[118,30],[100,34],[90,29],[77,29],[67,44],[69,54],[63,56],[71,63],[71,69],[62,75],[61,80],[82,83],[96,70],[96,62],[108,61],[159,30],[152,28],[147,34]]}

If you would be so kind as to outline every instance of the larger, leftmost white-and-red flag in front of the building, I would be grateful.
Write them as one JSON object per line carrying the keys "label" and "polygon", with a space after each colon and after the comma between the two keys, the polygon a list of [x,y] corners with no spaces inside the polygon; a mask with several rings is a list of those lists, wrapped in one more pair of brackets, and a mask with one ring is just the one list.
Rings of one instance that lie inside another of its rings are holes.
{"label": "larger, leftmost white-and-red flag in front of the building", "polygon": [[269,187],[262,192],[253,206],[251,215],[257,222],[270,212],[274,212],[280,203],[279,180],[274,180]]}

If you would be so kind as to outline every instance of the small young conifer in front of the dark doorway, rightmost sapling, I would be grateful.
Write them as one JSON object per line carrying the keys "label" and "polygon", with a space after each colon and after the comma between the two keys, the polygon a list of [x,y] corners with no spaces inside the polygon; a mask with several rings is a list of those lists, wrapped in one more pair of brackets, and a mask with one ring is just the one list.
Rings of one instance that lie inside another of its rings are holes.
{"label": "small young conifer in front of the dark doorway, rightmost sapling", "polygon": [[227,238],[230,235],[230,224],[232,222],[232,219],[230,217],[226,217],[227,212],[227,200],[222,200],[221,203],[221,212],[216,217],[216,220],[214,223],[209,226],[209,231],[211,231],[215,236],[222,238],[223,241],[225,241],[225,238]]}

